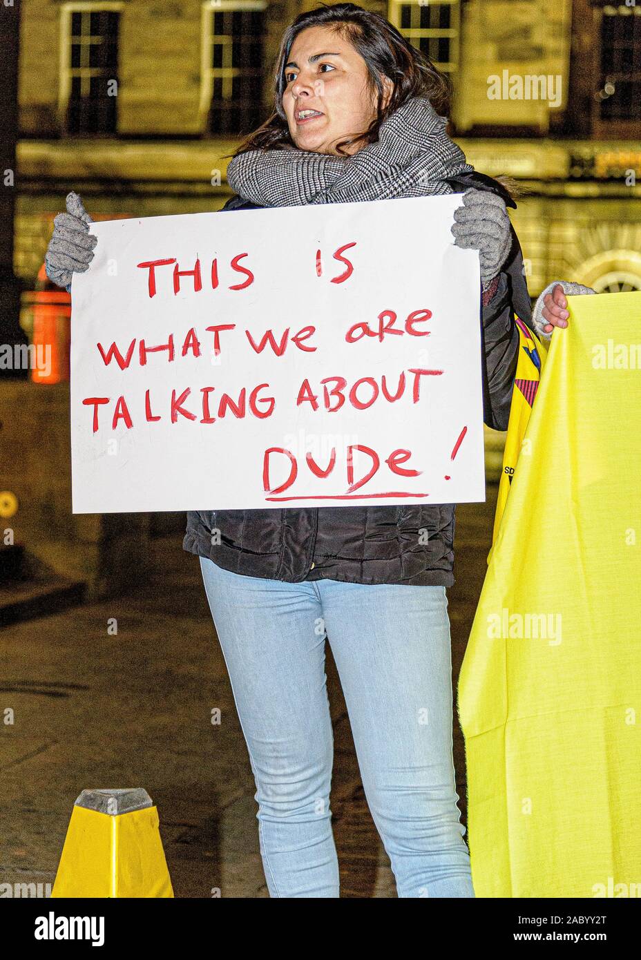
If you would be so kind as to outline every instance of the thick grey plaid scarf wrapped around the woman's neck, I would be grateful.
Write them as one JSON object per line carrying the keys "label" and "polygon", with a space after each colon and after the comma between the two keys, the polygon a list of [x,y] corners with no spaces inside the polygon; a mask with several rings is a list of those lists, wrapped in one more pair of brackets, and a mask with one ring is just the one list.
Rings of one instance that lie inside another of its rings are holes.
{"label": "thick grey plaid scarf wrapped around the woman's neck", "polygon": [[375,143],[352,156],[289,148],[234,156],[227,182],[261,206],[346,204],[451,193],[448,177],[468,173],[463,151],[425,97],[413,97],[381,124]]}

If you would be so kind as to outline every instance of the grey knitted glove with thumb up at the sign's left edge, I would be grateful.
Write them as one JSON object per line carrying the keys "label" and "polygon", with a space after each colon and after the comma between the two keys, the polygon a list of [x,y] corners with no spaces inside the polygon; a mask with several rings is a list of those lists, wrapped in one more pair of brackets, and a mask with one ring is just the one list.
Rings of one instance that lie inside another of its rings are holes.
{"label": "grey knitted glove with thumb up at the sign's left edge", "polygon": [[44,269],[50,280],[71,293],[71,276],[89,269],[98,237],[89,233],[88,225],[93,221],[77,193],[67,194],[66,207],[67,212],[59,213],[54,219]]}

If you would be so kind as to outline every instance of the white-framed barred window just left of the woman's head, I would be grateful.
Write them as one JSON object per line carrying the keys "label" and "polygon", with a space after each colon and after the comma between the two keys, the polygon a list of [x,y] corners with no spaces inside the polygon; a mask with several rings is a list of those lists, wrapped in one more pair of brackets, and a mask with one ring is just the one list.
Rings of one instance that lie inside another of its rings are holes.
{"label": "white-framed barred window just left of the woman's head", "polygon": [[202,80],[211,133],[249,133],[263,117],[266,0],[208,0]]}

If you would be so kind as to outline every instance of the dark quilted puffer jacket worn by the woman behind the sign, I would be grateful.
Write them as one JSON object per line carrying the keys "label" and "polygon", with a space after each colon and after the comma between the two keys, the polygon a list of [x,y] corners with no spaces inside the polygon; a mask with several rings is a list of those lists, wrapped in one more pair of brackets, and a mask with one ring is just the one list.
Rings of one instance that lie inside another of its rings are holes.
{"label": "dark quilted puffer jacket worn by the woman behind the sign", "polygon": [[[491,190],[509,206],[496,180],[476,172],[448,181],[456,193]],[[257,204],[233,197],[225,210]],[[494,282],[494,286],[496,283]],[[516,313],[530,324],[532,304],[521,248],[512,229],[510,256],[482,314],[484,420],[506,430],[518,354]],[[455,504],[314,507],[282,510],[202,510],[187,514],[183,548],[250,577],[299,583],[451,587]]]}

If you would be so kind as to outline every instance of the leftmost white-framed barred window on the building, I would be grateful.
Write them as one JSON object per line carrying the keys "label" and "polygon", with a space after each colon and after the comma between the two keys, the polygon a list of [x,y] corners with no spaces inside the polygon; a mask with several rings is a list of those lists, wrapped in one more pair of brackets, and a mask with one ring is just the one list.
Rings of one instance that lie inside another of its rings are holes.
{"label": "leftmost white-framed barred window on the building", "polygon": [[65,4],[61,10],[60,107],[68,133],[117,130],[121,4]]}

